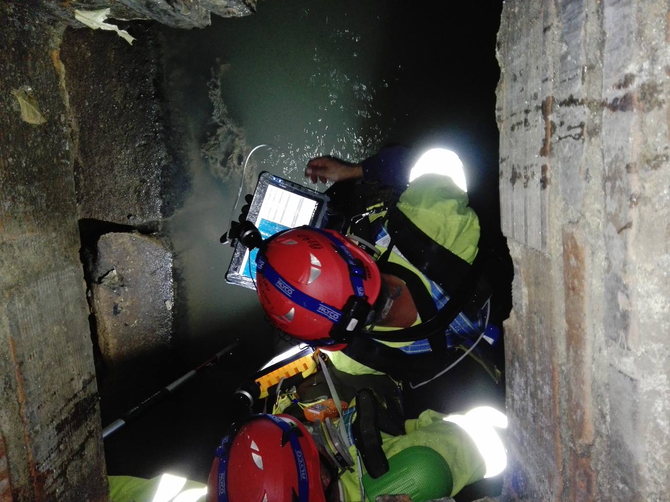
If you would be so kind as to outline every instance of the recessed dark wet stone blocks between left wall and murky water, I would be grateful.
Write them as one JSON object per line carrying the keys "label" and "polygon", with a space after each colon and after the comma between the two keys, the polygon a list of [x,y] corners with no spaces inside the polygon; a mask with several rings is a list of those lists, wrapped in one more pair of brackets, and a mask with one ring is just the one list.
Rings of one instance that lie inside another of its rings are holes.
{"label": "recessed dark wet stone blocks between left wall and murky water", "polygon": [[168,153],[174,120],[158,25],[123,28],[132,46],[110,31],[71,27],[60,46],[104,425],[177,376],[166,361],[183,303],[172,309],[172,244],[161,227],[190,182],[188,165]]}

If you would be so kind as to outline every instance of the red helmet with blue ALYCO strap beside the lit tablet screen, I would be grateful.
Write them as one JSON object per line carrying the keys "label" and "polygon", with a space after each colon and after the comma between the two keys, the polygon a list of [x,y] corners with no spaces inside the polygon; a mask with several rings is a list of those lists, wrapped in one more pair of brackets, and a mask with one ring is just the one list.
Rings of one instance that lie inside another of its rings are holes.
{"label": "red helmet with blue ALYCO strap beside the lit tablet screen", "polygon": [[375,260],[333,230],[303,226],[277,234],[256,263],[258,296],[271,322],[328,350],[346,347],[333,345],[334,326],[364,327],[381,290]]}

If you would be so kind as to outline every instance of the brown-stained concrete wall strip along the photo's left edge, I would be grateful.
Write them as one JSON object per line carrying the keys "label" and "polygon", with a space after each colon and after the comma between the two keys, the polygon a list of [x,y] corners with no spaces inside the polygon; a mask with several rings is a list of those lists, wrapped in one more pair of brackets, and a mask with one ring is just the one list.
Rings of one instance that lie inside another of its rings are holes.
{"label": "brown-stained concrete wall strip along the photo's left edge", "polygon": [[[104,500],[60,35],[25,5],[0,19],[0,494]],[[22,86],[43,124],[21,119]]]}

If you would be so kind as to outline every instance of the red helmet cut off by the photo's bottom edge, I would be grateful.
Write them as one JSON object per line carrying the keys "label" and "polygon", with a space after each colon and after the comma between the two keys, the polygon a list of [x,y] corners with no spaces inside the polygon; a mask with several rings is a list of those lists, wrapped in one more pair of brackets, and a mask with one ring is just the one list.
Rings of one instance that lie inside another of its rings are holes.
{"label": "red helmet cut off by the photo's bottom edge", "polygon": [[289,415],[233,426],[216,450],[207,502],[325,502],[316,444]]}

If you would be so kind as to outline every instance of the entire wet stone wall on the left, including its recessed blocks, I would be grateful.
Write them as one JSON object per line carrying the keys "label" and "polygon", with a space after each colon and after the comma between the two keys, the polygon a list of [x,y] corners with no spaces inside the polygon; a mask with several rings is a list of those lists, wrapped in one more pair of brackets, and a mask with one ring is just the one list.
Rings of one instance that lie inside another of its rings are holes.
{"label": "entire wet stone wall on the left, including its recessed blocks", "polygon": [[[74,20],[108,8],[132,46]],[[1,500],[106,500],[98,392],[109,422],[178,371],[165,363],[178,281],[161,222],[188,174],[163,134],[154,21],[253,9],[0,0]]]}

